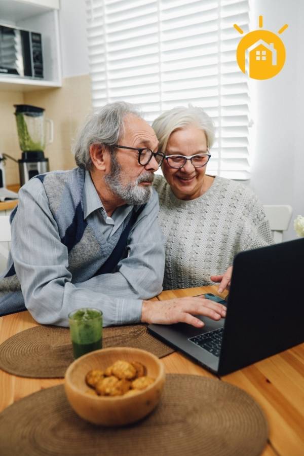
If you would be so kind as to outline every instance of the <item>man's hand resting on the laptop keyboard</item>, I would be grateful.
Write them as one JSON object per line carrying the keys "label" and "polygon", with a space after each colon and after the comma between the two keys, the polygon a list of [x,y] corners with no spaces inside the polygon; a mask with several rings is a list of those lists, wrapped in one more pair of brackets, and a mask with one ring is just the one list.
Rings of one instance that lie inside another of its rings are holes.
{"label": "man's hand resting on the laptop keyboard", "polygon": [[203,315],[220,320],[226,316],[226,308],[221,304],[204,297],[182,297],[165,301],[143,301],[141,311],[142,323],[188,323],[201,328],[204,323],[194,315]]}

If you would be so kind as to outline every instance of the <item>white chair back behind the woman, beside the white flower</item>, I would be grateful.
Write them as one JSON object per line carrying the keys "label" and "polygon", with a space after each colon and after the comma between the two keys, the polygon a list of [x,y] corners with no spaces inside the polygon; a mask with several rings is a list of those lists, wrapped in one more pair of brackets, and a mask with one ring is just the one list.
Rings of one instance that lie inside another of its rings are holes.
{"label": "white chair back behind the woman, beside the white flower", "polygon": [[264,205],[264,212],[270,223],[275,244],[283,241],[283,231],[286,231],[292,215],[292,207],[288,204]]}

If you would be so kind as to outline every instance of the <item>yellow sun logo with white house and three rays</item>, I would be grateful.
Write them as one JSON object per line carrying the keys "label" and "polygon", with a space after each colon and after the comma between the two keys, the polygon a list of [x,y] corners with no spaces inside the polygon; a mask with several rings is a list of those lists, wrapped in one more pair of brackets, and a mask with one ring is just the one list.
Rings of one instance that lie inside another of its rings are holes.
{"label": "yellow sun logo with white house and three rays", "polygon": [[[263,26],[263,16],[259,16],[259,27]],[[283,33],[288,27],[285,24],[278,31]],[[244,31],[234,24],[239,33]],[[247,57],[247,58],[246,58]],[[237,62],[240,69],[253,79],[273,78],[284,66],[285,46],[278,35],[269,30],[253,30],[247,33],[237,48]]]}

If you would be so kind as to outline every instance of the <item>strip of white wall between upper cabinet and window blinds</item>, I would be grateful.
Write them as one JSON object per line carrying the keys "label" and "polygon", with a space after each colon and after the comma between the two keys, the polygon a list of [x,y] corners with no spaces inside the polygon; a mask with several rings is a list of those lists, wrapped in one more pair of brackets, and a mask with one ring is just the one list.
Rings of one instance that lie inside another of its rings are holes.
{"label": "strip of white wall between upper cabinet and window blinds", "polygon": [[63,78],[89,73],[85,0],[60,0]]}

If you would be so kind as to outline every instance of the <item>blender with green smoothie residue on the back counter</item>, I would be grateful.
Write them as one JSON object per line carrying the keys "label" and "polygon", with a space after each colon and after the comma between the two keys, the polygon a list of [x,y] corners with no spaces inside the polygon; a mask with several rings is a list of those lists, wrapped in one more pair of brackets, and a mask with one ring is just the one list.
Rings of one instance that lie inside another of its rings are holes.
{"label": "blender with green smoothie residue on the back counter", "polygon": [[[53,142],[53,121],[45,119],[44,108],[30,104],[14,104],[22,158],[18,160],[20,185],[31,177],[49,171],[49,159],[44,156],[46,144]],[[46,126],[48,140],[46,140]]]}

